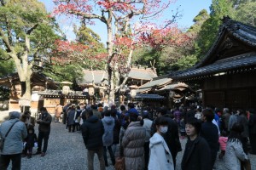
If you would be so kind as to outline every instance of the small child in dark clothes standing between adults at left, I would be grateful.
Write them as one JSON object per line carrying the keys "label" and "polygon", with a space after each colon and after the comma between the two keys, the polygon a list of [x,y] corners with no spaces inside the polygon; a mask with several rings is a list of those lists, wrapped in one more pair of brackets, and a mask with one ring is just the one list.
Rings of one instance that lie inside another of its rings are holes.
{"label": "small child in dark clothes standing between adults at left", "polygon": [[33,127],[28,128],[27,132],[27,137],[25,139],[25,154],[27,155],[27,158],[30,159],[32,158],[33,147],[38,139]]}

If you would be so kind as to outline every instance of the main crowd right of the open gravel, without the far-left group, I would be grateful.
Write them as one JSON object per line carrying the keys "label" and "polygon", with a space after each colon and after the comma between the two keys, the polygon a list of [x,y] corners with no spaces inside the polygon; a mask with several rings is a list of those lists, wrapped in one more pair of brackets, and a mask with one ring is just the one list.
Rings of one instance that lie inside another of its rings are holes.
{"label": "main crowd right of the open gravel, without the far-left group", "polygon": [[[119,108],[102,104],[77,107],[84,144],[90,150],[89,169],[93,169],[94,153],[101,169],[108,167],[107,152],[113,165],[119,163],[115,160],[125,161],[125,169],[175,169],[177,153],[182,150],[180,139],[187,139],[181,164],[184,170],[214,169],[216,159],[223,160],[227,169],[249,169],[249,150],[256,154],[253,109],[220,111],[179,105],[173,110],[163,106],[138,111],[131,103]],[[77,119],[72,108],[71,104],[63,107],[67,127],[70,116],[73,123]]]}

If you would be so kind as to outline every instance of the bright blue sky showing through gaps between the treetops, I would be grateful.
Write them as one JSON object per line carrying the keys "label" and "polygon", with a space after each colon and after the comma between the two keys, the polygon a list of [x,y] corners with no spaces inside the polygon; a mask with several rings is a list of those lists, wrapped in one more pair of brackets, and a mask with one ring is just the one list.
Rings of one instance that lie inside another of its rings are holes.
{"label": "bright blue sky showing through gaps between the treetops", "polygon": [[[39,0],[40,2],[44,3],[48,12],[51,12],[54,8],[54,3],[52,0]],[[172,4],[173,10],[180,11],[182,17],[177,20],[177,26],[179,28],[187,29],[192,26],[193,19],[195,16],[201,11],[201,9],[207,9],[209,12],[209,7],[212,3],[212,0],[177,0],[176,3]],[[65,17],[57,17],[57,21],[61,26],[61,30],[67,35],[68,40],[73,40],[75,38],[73,34],[73,20],[67,20]],[[107,42],[107,29],[105,29],[105,25],[100,22],[96,22],[95,26],[90,26],[93,31],[95,31],[101,38],[102,42]]]}

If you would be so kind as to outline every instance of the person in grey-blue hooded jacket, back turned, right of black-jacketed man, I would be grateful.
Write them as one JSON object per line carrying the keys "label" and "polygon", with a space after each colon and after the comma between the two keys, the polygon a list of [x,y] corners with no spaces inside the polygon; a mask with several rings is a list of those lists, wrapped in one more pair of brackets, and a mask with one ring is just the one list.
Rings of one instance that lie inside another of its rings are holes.
{"label": "person in grey-blue hooded jacket, back turned, right of black-jacketed man", "polygon": [[102,141],[104,146],[103,156],[104,156],[106,167],[108,167],[107,150],[110,155],[112,164],[113,165],[115,164],[115,159],[114,159],[113,150],[112,150],[114,119],[113,119],[113,116],[110,116],[110,114],[111,114],[110,111],[105,111],[104,118],[102,118],[102,123],[104,127],[104,134],[102,136]]}

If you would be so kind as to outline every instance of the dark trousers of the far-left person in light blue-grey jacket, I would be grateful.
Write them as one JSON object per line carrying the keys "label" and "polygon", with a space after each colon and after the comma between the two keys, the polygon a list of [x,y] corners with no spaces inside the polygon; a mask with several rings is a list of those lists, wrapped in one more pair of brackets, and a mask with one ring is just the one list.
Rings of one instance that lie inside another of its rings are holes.
{"label": "dark trousers of the far-left person in light blue-grey jacket", "polygon": [[12,170],[20,170],[21,153],[14,155],[1,155],[0,156],[0,169],[7,170],[9,162],[12,161]]}

